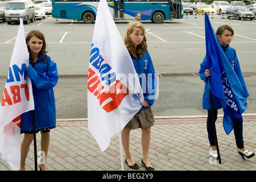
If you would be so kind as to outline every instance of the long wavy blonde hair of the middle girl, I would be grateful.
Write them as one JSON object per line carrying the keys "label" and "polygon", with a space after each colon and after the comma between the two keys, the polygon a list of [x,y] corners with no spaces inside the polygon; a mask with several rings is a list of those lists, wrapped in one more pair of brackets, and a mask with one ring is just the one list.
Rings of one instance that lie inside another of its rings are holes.
{"label": "long wavy blonde hair of the middle girl", "polygon": [[[131,42],[131,38],[129,37],[129,33],[132,34],[133,31],[135,30],[135,28],[139,28],[139,30],[142,30],[142,32],[143,32],[143,40],[142,40],[141,44],[139,44],[137,46],[137,48],[135,48],[133,46],[133,42]],[[125,46],[128,49],[131,56],[138,58],[138,57],[142,57],[143,55],[146,54],[147,40],[146,40],[145,33],[146,33],[145,28],[142,23],[135,22],[135,21],[129,23],[126,33],[125,33],[125,36],[123,38],[123,42],[125,42]]]}

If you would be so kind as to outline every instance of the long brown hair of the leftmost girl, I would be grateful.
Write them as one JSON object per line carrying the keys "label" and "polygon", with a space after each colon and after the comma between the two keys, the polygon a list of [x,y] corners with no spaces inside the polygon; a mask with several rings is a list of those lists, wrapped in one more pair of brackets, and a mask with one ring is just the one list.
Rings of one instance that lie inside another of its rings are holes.
{"label": "long brown hair of the leftmost girl", "polygon": [[[41,49],[41,53],[43,54],[43,61],[46,61],[45,58],[46,58],[46,53],[48,52],[46,50],[46,47],[47,47],[47,44],[45,42],[45,36],[43,35],[43,33],[40,31],[40,30],[31,30],[27,36],[26,36],[26,43],[29,42],[29,40],[31,39],[31,37],[35,36],[36,38],[40,39],[43,41],[43,46],[42,46],[42,49]],[[29,50],[30,52],[30,48],[29,46],[27,46],[27,49]],[[29,59],[31,59],[31,55],[29,55]],[[37,61],[37,60],[34,60],[34,61]]]}

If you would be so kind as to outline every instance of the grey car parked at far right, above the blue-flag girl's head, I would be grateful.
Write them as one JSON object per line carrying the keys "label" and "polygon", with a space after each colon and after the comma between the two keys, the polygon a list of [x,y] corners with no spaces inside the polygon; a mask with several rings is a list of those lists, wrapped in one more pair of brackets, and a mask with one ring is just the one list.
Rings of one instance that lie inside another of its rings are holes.
{"label": "grey car parked at far right, above the blue-flag girl's head", "polygon": [[255,15],[247,9],[245,6],[229,6],[226,10],[227,18],[234,17],[239,19],[253,20]]}

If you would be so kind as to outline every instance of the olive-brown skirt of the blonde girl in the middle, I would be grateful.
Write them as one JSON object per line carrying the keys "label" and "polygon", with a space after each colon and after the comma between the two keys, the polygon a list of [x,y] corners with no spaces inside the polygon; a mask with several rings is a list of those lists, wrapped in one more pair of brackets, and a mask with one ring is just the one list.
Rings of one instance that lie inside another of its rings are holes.
{"label": "olive-brown skirt of the blonde girl in the middle", "polygon": [[147,129],[154,125],[154,115],[149,108],[138,111],[125,126],[126,129]]}

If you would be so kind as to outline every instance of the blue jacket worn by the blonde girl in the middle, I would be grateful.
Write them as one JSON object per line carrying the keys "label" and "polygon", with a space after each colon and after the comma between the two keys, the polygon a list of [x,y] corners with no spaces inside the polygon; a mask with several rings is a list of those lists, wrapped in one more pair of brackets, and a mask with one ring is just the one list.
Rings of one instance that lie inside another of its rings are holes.
{"label": "blue jacket worn by the blonde girl in the middle", "polygon": [[143,110],[151,107],[154,103],[155,95],[157,94],[157,77],[155,76],[155,69],[149,51],[146,51],[146,54],[138,57],[138,59],[131,56],[131,60],[133,60],[135,71],[138,73],[144,99],[149,102],[149,106],[141,107],[141,110]]}

